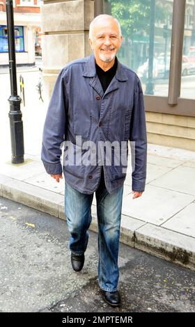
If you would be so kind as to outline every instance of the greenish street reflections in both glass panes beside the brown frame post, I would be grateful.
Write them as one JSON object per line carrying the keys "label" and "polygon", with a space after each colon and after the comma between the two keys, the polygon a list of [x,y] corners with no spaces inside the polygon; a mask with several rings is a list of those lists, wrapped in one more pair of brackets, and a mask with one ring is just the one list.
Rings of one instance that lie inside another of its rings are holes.
{"label": "greenish street reflections in both glass panes beside the brown frame post", "polygon": [[[145,94],[167,97],[173,0],[104,0],[104,10],[121,25],[119,60],[137,72]],[[186,1],[181,73],[181,97],[194,99],[195,0]]]}

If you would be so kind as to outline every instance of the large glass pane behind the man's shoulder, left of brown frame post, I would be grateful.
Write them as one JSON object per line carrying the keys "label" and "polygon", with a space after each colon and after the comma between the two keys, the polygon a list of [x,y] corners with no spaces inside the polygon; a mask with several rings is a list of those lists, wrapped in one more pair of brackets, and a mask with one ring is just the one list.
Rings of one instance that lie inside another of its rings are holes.
{"label": "large glass pane behind the man's shoulder, left of brown frame post", "polygon": [[137,72],[145,95],[167,96],[173,2],[107,0],[104,5],[105,2],[104,8],[119,20],[123,33],[118,59]]}

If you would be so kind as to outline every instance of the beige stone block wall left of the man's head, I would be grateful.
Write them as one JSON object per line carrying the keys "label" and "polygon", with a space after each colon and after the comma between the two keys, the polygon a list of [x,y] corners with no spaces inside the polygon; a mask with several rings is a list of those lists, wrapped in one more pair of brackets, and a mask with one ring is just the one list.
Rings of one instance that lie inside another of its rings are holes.
{"label": "beige stone block wall left of the man's head", "polygon": [[45,0],[41,7],[42,65],[46,97],[56,77],[70,61],[91,54],[88,27],[94,17],[91,0]]}

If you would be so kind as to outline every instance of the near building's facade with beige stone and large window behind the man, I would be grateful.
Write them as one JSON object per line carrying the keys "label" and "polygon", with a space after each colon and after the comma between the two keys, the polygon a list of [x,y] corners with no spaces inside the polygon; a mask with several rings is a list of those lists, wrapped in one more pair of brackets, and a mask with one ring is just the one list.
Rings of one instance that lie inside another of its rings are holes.
{"label": "near building's facade with beige stone and large window behind the man", "polygon": [[51,95],[59,71],[88,56],[95,15],[120,21],[121,62],[139,75],[148,141],[195,150],[194,0],[45,0],[41,8],[43,77]]}

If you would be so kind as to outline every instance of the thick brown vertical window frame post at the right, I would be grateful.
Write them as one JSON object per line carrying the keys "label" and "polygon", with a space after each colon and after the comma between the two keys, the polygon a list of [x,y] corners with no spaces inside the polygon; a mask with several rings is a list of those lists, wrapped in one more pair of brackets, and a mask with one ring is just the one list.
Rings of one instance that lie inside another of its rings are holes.
{"label": "thick brown vertical window frame post at the right", "polygon": [[172,105],[178,104],[178,97],[180,97],[184,27],[185,0],[174,0],[168,98],[168,103]]}

